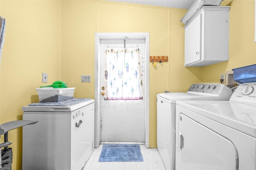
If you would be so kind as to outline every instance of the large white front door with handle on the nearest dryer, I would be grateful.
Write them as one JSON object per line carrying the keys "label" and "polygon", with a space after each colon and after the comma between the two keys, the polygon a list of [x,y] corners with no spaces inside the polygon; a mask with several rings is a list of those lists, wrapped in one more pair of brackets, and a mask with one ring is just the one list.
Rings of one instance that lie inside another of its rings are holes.
{"label": "large white front door with handle on the nearest dryer", "polygon": [[180,113],[176,169],[236,170],[238,151],[224,136]]}

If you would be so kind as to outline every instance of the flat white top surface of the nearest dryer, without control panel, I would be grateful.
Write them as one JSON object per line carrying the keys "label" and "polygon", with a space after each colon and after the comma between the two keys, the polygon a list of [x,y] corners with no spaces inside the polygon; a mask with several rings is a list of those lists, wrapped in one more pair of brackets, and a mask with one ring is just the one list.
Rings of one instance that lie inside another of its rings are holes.
{"label": "flat white top surface of the nearest dryer, without control panel", "polygon": [[232,101],[177,101],[190,111],[256,138],[256,106]]}

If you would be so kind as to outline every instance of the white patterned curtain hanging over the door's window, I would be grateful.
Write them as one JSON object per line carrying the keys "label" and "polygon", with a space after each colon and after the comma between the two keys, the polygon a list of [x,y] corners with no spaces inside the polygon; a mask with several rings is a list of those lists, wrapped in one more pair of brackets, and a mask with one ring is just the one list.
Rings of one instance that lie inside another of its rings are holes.
{"label": "white patterned curtain hanging over the door's window", "polygon": [[105,99],[142,99],[142,73],[137,48],[107,49],[105,66]]}

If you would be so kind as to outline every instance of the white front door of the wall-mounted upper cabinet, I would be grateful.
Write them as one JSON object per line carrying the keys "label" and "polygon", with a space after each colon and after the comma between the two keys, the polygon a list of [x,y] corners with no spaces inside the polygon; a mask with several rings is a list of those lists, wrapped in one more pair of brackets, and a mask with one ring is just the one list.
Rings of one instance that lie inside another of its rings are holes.
{"label": "white front door of the wall-mounted upper cabinet", "polygon": [[201,14],[185,27],[185,66],[201,60]]}

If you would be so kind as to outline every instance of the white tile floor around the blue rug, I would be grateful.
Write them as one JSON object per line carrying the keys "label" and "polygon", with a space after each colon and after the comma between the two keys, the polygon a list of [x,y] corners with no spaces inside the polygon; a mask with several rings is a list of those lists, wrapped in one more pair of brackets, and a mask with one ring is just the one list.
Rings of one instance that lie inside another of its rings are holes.
{"label": "white tile floor around the blue rug", "polygon": [[83,170],[165,170],[157,148],[140,144],[143,162],[98,162],[103,144],[94,148]]}

